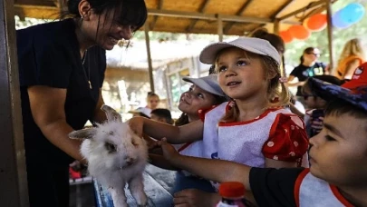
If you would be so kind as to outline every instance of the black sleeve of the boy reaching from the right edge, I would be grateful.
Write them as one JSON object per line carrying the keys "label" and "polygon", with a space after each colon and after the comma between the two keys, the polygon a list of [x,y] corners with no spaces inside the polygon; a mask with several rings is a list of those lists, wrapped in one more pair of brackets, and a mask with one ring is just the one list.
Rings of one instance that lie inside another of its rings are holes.
{"label": "black sleeve of the boy reaching from the right edge", "polygon": [[295,181],[303,168],[252,168],[251,191],[258,206],[295,207]]}

